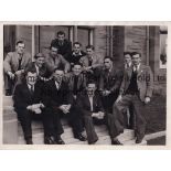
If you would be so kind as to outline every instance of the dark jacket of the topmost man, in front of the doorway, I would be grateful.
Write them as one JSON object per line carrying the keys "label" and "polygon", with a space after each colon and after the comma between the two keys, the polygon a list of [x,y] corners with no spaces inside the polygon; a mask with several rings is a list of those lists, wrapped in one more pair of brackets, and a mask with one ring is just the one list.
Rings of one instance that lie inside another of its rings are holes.
{"label": "dark jacket of the topmost man, in front of the doorway", "polygon": [[64,40],[63,45],[60,45],[58,40],[52,40],[51,45],[55,45],[58,47],[58,54],[63,55],[66,60],[68,55],[72,53],[72,42],[68,40]]}

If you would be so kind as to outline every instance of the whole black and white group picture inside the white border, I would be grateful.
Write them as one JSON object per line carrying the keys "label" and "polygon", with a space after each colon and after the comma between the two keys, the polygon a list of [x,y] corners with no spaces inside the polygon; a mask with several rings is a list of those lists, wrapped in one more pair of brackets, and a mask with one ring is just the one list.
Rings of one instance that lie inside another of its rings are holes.
{"label": "whole black and white group picture inside the white border", "polygon": [[3,145],[167,146],[167,24],[3,24],[1,43]]}

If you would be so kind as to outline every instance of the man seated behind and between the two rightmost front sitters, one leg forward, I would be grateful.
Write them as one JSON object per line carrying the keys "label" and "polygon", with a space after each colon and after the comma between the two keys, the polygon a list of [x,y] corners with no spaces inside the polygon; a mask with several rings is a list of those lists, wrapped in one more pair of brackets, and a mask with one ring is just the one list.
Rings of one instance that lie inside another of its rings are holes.
{"label": "man seated behind and between the two rightmost front sitters, one leg forward", "polygon": [[68,95],[71,101],[71,109],[66,117],[68,118],[70,124],[73,128],[74,138],[77,138],[81,141],[85,141],[86,138],[82,135],[83,117],[81,113],[77,111],[76,99],[77,96],[82,94],[86,88],[86,78],[85,75],[82,74],[82,65],[79,63],[75,63],[72,70],[72,73],[65,75],[65,81],[70,90]]}

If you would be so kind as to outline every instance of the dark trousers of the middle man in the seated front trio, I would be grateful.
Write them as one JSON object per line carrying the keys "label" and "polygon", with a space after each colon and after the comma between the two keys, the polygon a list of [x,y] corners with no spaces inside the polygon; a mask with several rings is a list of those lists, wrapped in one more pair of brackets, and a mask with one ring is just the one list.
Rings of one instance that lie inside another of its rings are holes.
{"label": "dark trousers of the middle man in the seated front trio", "polygon": [[57,137],[61,136],[64,130],[60,119],[61,110],[45,108],[43,111],[43,126],[44,126],[44,137]]}

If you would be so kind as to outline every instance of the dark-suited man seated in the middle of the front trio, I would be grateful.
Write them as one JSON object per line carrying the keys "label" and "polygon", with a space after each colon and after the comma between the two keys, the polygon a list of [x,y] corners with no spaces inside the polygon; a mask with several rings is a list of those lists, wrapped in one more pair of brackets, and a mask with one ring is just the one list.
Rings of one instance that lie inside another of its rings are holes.
{"label": "dark-suited man seated in the middle of the front trio", "polygon": [[64,72],[55,68],[53,78],[45,83],[43,104],[44,109],[44,143],[64,145],[61,135],[64,132],[61,115],[68,114],[71,109],[67,84],[63,81]]}

